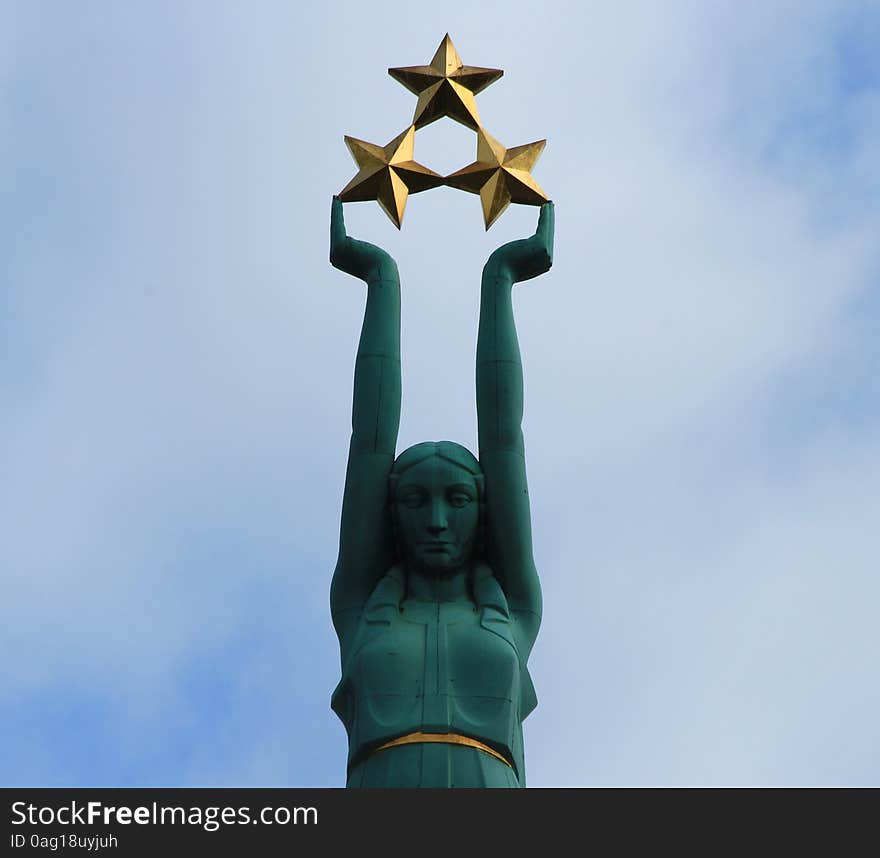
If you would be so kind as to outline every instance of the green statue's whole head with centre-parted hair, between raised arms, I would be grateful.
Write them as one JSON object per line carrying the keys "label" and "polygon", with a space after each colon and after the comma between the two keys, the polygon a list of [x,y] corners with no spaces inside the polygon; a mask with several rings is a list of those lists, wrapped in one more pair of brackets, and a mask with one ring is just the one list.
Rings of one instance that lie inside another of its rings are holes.
{"label": "green statue's whole head with centre-parted hair, between raised arms", "polygon": [[467,566],[481,550],[483,471],[453,441],[404,450],[391,469],[391,517],[400,559],[443,574]]}

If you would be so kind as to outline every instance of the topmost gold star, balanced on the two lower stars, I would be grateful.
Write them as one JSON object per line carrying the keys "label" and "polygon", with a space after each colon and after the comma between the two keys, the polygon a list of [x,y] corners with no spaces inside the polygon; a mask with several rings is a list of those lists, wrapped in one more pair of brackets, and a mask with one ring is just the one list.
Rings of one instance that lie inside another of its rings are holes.
{"label": "topmost gold star, balanced on the two lower stars", "polygon": [[388,74],[419,97],[413,116],[416,128],[449,116],[476,131],[480,127],[480,117],[474,96],[504,72],[462,65],[447,33],[431,65],[388,69]]}

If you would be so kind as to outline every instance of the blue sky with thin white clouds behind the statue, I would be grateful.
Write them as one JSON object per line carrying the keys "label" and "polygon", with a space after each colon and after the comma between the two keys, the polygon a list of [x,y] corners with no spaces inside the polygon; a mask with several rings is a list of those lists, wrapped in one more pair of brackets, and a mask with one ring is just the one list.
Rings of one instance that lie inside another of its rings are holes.
{"label": "blue sky with thin white clouds behind the statue", "polygon": [[[447,32],[556,206],[514,299],[529,785],[880,784],[880,6],[7,0],[2,785],[344,784],[330,200]],[[480,271],[537,209],[345,215],[401,272],[398,449],[474,449]]]}

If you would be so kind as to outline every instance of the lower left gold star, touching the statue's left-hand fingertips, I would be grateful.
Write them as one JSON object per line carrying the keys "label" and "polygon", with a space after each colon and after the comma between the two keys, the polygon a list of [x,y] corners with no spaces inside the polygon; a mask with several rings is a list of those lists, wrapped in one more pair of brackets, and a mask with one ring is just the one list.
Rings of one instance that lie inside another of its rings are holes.
{"label": "lower left gold star, touching the statue's left-hand fingertips", "polygon": [[412,160],[415,135],[415,126],[410,125],[386,146],[346,136],[358,174],[339,192],[339,198],[344,203],[376,200],[400,229],[407,197],[444,182],[442,176]]}

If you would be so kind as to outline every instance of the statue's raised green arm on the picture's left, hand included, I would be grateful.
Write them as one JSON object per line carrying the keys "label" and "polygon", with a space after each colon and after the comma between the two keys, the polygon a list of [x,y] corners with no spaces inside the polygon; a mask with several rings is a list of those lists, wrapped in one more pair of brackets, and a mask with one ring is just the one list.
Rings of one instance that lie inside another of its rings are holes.
{"label": "statue's raised green arm on the picture's left, hand included", "polygon": [[330,262],[367,284],[339,557],[330,589],[333,620],[342,637],[393,562],[388,475],[400,426],[400,280],[389,254],[346,235],[338,197],[333,198],[330,217]]}

